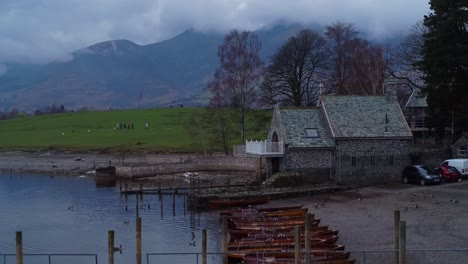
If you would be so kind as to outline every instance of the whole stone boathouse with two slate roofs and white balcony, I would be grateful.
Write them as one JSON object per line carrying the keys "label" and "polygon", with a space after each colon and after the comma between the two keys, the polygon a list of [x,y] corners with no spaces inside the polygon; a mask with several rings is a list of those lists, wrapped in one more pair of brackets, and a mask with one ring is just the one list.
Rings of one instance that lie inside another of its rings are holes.
{"label": "whole stone boathouse with two slate roofs and white balcony", "polygon": [[372,184],[399,180],[412,133],[392,93],[321,96],[318,107],[275,106],[268,138],[246,142],[266,158],[269,176],[298,171],[304,180]]}

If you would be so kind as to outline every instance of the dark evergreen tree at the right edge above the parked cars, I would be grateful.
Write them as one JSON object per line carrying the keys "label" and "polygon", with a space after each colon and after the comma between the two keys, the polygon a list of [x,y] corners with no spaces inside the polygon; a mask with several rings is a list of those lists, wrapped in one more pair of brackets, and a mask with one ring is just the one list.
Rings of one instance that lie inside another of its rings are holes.
{"label": "dark evergreen tree at the right edge above the parked cars", "polygon": [[431,0],[422,60],[430,122],[441,134],[468,129],[468,1]]}

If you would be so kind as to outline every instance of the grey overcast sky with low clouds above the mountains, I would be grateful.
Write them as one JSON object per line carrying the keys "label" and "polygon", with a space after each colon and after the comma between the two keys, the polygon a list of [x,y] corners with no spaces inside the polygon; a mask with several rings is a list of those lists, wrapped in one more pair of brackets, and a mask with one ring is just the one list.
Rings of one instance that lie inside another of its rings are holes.
{"label": "grey overcast sky with low clouds above the mountains", "polygon": [[428,12],[427,0],[0,0],[0,75],[2,63],[66,60],[111,39],[149,44],[187,29],[337,20],[378,38],[406,32]]}

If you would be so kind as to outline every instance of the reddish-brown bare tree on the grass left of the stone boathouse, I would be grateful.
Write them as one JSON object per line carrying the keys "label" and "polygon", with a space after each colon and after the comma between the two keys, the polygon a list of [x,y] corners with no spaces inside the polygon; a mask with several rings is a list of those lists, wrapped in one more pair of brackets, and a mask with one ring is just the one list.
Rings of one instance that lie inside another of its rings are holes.
{"label": "reddish-brown bare tree on the grass left of the stone boathouse", "polygon": [[[218,49],[219,67],[209,87],[212,100],[223,100],[218,107],[238,110],[241,138],[245,141],[246,111],[257,101],[256,88],[263,77],[263,62],[259,52],[261,48],[258,36],[250,31],[232,31],[224,38]],[[216,94],[218,93],[218,95]]]}

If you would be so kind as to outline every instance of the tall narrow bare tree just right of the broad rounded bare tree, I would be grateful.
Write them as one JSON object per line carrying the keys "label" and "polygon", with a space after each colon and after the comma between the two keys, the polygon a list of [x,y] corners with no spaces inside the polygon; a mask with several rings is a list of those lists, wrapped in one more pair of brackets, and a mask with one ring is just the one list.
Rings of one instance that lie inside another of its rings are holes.
{"label": "tall narrow bare tree just right of the broad rounded bare tree", "polygon": [[350,94],[350,86],[347,83],[348,65],[351,57],[351,42],[357,38],[358,31],[353,24],[341,21],[328,25],[325,29],[327,39],[327,51],[330,58],[329,83],[336,87],[338,94]]}

